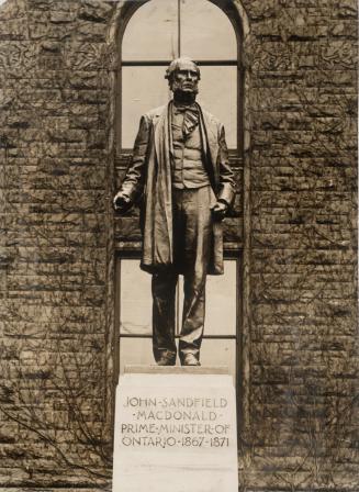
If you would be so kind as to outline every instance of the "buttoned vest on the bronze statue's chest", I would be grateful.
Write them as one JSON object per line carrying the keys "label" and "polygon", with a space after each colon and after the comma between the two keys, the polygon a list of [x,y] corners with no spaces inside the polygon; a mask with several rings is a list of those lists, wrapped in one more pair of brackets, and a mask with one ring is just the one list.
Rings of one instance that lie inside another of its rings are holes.
{"label": "buttoned vest on the bronze statue's chest", "polygon": [[186,135],[183,113],[172,114],[172,186],[177,189],[202,188],[210,185],[202,160],[202,142],[199,124]]}

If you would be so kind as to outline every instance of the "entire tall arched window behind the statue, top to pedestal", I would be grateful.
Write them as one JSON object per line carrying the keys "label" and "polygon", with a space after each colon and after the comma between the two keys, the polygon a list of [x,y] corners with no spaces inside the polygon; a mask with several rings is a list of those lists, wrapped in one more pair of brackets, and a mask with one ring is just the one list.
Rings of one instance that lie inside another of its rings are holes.
{"label": "entire tall arched window behind the statue, top to pedestal", "polygon": [[[216,4],[217,3],[217,4]],[[125,172],[142,114],[171,98],[165,71],[187,55],[201,68],[200,104],[224,123],[232,166],[242,187],[242,31],[229,0],[130,1],[120,33],[116,171]],[[220,8],[220,7],[221,8]],[[240,197],[242,193],[238,193]],[[201,349],[204,365],[240,366],[240,198],[225,226],[225,275],[207,277],[206,322]],[[119,217],[116,230],[116,326],[119,370],[153,364],[150,276],[139,270],[141,234],[134,217]],[[178,288],[178,305],[182,305]],[[218,309],[220,306],[220,309]],[[179,335],[181,313],[177,313]]]}

